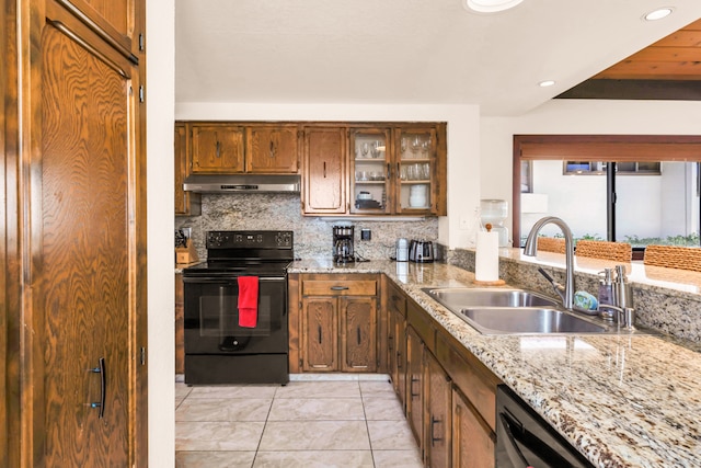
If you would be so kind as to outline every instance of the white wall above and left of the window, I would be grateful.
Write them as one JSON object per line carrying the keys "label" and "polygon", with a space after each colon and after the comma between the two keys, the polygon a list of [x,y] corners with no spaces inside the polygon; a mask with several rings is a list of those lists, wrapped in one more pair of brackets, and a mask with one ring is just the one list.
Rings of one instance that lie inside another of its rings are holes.
{"label": "white wall above and left of the window", "polygon": [[514,135],[701,135],[700,122],[696,101],[553,100],[518,117],[483,117],[481,197],[512,201]]}

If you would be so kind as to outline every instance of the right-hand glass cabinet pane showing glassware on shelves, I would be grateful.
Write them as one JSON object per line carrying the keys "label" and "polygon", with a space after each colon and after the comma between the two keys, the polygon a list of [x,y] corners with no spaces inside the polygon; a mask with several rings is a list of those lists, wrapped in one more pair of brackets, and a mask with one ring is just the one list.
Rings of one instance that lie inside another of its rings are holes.
{"label": "right-hand glass cabinet pane showing glassware on shelves", "polygon": [[426,212],[433,203],[436,135],[405,130],[399,135],[399,204],[402,213]]}

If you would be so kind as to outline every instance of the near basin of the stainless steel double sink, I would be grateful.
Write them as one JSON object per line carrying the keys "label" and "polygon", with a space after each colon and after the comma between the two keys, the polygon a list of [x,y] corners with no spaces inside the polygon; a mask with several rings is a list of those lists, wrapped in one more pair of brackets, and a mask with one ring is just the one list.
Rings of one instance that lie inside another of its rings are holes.
{"label": "near basin of the stainless steel double sink", "polygon": [[487,307],[462,309],[458,317],[484,334],[608,333],[616,327],[544,307]]}

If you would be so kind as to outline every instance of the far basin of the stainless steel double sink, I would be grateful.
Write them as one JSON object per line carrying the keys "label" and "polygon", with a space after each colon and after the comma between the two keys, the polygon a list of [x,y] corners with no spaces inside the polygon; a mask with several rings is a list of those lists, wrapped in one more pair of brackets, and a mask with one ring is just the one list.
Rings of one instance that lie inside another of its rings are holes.
{"label": "far basin of the stainless steel double sink", "polygon": [[424,288],[424,293],[456,311],[471,307],[555,307],[558,301],[524,289],[470,287]]}

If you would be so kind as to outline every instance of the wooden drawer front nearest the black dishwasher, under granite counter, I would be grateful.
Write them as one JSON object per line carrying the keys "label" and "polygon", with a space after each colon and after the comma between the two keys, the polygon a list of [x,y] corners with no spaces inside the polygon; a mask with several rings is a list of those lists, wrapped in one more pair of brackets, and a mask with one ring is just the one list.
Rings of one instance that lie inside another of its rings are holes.
{"label": "wooden drawer front nearest the black dishwasher, under granite counter", "polygon": [[486,424],[495,431],[496,386],[501,380],[469,352],[459,352],[439,336],[436,357],[456,387],[467,397]]}

